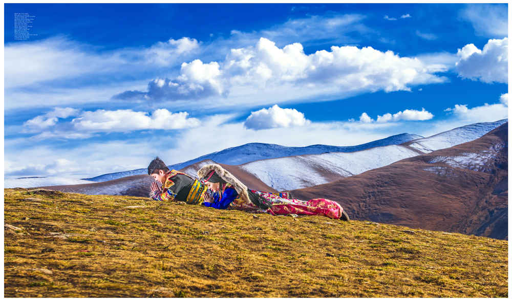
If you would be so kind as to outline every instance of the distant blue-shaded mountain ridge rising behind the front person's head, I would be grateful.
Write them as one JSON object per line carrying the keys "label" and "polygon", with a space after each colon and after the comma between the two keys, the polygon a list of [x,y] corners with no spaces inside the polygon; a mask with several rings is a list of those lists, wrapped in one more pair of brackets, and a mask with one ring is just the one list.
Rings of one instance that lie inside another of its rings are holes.
{"label": "distant blue-shaded mountain ridge rising behind the front person's head", "polygon": [[[306,154],[323,154],[327,152],[357,152],[358,150],[367,149],[376,146],[385,146],[385,145],[396,145],[401,144],[407,141],[415,140],[423,138],[414,134],[399,134],[390,136],[385,139],[375,140],[369,143],[360,144],[356,146],[332,146],[332,145],[323,145],[323,144],[315,144],[304,147],[287,147],[277,144],[267,144],[267,143],[247,143],[241,146],[230,147],[221,150],[220,152],[211,153],[208,155],[201,156],[199,158],[188,160],[186,162],[168,165],[169,169],[180,170],[188,165],[192,165],[194,163],[204,161],[204,160],[212,160],[217,163],[229,164],[229,165],[240,165],[247,162],[255,161],[255,160],[263,160],[263,159],[272,159],[272,158],[281,158],[288,156],[298,156],[298,155],[306,155]],[[149,163],[149,162],[148,162]],[[119,179],[122,177],[134,176],[134,175],[145,175],[147,173],[146,168],[140,168],[135,170],[121,171],[119,173],[112,173],[101,175],[94,178],[88,178],[84,180],[94,181],[94,182],[103,182],[110,181],[114,179]]]}

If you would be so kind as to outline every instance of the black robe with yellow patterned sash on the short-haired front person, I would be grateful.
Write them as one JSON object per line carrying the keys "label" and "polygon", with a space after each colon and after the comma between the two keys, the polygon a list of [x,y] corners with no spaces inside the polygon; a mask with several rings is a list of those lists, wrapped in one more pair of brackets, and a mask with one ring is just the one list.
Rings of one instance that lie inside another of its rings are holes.
{"label": "black robe with yellow patterned sash on the short-haired front person", "polygon": [[196,205],[204,201],[204,192],[207,187],[198,180],[173,169],[161,189],[161,191],[152,191],[150,198],[156,201],[183,201],[189,205]]}

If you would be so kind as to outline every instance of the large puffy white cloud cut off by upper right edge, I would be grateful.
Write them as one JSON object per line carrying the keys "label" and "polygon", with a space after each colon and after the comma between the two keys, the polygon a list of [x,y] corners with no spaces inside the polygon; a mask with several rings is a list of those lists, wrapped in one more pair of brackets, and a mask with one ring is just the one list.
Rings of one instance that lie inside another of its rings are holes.
{"label": "large puffy white cloud cut off by upper right edge", "polygon": [[508,38],[490,39],[483,51],[473,44],[459,49],[455,70],[460,77],[486,83],[508,83]]}

